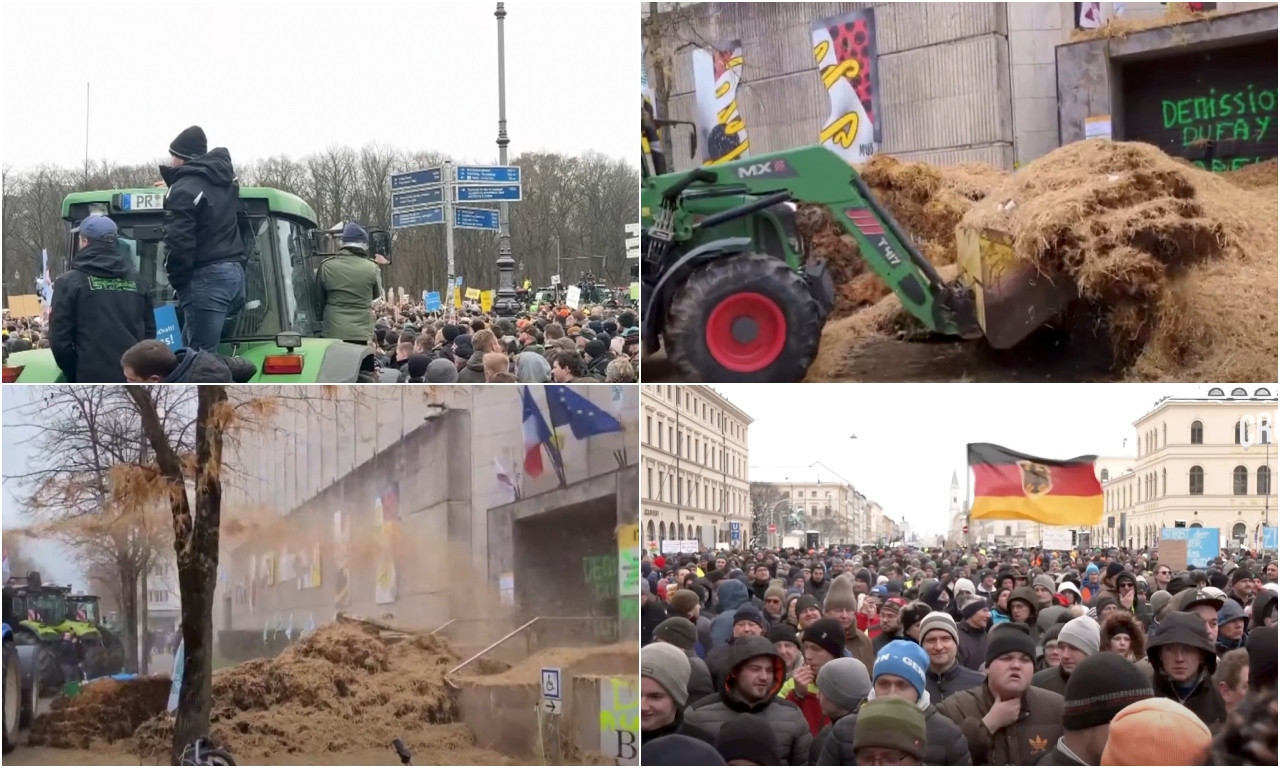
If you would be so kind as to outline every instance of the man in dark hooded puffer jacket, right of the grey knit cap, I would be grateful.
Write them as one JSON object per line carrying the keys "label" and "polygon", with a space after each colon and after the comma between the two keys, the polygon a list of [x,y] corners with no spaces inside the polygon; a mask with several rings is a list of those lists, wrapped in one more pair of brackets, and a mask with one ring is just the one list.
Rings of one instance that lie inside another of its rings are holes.
{"label": "man in dark hooded puffer jacket, right of the grey knit cap", "polygon": [[777,739],[778,759],[806,765],[813,735],[800,709],[778,698],[786,671],[767,637],[741,637],[731,646],[730,673],[721,691],[690,704],[685,722],[717,735],[742,714],[763,717]]}

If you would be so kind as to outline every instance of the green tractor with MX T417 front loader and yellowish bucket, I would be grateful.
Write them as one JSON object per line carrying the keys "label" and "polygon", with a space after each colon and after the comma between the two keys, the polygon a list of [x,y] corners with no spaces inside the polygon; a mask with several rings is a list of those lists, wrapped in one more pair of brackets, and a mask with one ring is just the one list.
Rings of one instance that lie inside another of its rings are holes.
{"label": "green tractor with MX T417 front loader and yellowish bucket", "polygon": [[643,338],[686,381],[804,378],[835,288],[796,227],[797,204],[824,207],[931,334],[1007,349],[1078,298],[1071,280],[1015,259],[1007,234],[964,227],[959,278],[943,282],[858,172],[822,146],[675,173],[658,140],[668,124],[643,102]]}

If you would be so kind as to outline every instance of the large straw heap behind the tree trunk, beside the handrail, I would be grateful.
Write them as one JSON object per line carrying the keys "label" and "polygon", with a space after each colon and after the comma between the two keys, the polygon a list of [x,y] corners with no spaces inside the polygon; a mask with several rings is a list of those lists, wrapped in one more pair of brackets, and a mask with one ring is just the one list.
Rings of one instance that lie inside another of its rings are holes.
{"label": "large straw heap behind the tree trunk, beside the handrail", "polygon": [[[475,744],[466,727],[439,727],[457,717],[444,684],[457,660],[433,636],[388,643],[365,625],[329,625],[275,658],[215,672],[210,735],[244,755],[388,749],[396,737],[415,751],[466,749]],[[415,744],[424,728],[430,744]],[[136,746],[154,756],[172,739],[173,721],[161,714],[138,728]]]}

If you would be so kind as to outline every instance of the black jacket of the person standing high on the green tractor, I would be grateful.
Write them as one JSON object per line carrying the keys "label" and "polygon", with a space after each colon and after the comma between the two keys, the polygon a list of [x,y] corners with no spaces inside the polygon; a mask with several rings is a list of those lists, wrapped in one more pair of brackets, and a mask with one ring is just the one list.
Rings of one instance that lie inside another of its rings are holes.
{"label": "black jacket of the person standing high on the green tractor", "polygon": [[164,198],[165,273],[179,294],[201,266],[219,261],[244,261],[241,239],[239,184],[232,156],[223,147],[210,150],[178,168],[160,168],[169,186]]}

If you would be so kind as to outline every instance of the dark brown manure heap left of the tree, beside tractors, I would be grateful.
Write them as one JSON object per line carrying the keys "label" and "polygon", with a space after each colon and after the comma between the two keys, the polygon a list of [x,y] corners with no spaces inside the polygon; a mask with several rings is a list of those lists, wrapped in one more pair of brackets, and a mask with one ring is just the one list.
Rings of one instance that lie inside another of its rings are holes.
{"label": "dark brown manure heap left of the tree, beside tractors", "polygon": [[164,712],[169,676],[97,680],[74,696],[55,699],[52,709],[31,724],[31,746],[90,749],[133,736],[145,721]]}

